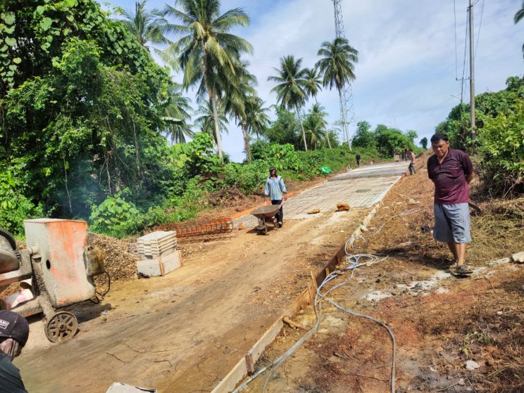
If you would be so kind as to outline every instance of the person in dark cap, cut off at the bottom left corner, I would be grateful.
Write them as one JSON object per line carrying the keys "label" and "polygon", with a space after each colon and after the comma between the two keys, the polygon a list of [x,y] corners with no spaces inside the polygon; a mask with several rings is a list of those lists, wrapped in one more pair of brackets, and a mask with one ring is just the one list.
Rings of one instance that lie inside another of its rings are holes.
{"label": "person in dark cap, cut off at the bottom left corner", "polygon": [[13,359],[29,337],[29,323],[19,313],[0,311],[0,392],[27,393]]}

